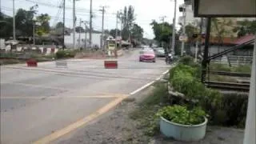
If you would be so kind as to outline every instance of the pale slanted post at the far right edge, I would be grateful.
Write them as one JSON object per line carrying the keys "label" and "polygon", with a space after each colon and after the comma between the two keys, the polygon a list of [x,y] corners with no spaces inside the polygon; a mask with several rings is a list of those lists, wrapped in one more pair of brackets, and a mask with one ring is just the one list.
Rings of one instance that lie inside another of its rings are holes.
{"label": "pale slanted post at the far right edge", "polygon": [[250,76],[250,94],[248,99],[246,130],[243,144],[255,144],[256,140],[256,34],[254,38],[254,58]]}

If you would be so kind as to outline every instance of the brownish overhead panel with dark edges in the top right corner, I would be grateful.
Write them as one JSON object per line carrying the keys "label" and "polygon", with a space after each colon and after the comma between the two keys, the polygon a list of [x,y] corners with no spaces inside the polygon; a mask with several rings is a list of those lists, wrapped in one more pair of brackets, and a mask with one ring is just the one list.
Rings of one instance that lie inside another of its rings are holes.
{"label": "brownish overhead panel with dark edges in the top right corner", "polygon": [[194,0],[194,17],[256,17],[255,0]]}

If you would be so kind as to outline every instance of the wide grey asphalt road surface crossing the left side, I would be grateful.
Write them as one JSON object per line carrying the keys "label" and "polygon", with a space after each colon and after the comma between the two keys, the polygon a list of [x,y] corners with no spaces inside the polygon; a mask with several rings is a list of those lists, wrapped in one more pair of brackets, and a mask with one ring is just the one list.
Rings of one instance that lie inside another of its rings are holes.
{"label": "wide grey asphalt road surface crossing the left side", "polygon": [[74,59],[38,67],[1,66],[1,143],[35,142],[129,95],[168,70],[163,60],[138,62],[138,50],[118,58],[118,69],[103,60]]}

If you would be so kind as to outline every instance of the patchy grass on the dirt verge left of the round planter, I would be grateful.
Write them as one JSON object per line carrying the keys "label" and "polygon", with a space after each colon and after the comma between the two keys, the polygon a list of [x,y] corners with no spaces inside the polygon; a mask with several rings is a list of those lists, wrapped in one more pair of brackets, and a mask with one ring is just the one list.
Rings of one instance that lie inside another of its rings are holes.
{"label": "patchy grass on the dirt verge left of the round planter", "polygon": [[138,108],[129,114],[129,118],[138,122],[137,128],[142,129],[148,136],[153,136],[159,131],[155,114],[160,107],[168,105],[166,85],[156,82],[153,86],[152,93],[139,102]]}

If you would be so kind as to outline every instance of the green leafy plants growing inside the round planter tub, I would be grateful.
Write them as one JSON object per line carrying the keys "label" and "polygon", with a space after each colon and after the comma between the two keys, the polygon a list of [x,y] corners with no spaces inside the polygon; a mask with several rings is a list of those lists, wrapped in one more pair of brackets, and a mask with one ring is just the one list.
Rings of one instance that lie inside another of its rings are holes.
{"label": "green leafy plants growing inside the round planter tub", "polygon": [[205,122],[206,113],[200,107],[187,110],[185,106],[166,106],[157,113],[158,117],[182,125],[198,125]]}

